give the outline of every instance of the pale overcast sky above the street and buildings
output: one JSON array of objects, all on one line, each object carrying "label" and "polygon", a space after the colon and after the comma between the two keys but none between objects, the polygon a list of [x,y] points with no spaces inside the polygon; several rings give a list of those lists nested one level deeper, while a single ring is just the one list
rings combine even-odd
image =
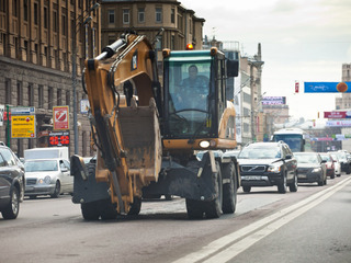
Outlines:
[{"label": "pale overcast sky above the street and buildings", "polygon": [[262,92],[286,96],[293,117],[315,119],[335,110],[340,94],[304,93],[303,82],[341,81],[342,64],[351,64],[351,0],[179,1],[206,20],[210,38],[239,42],[246,56],[261,43]]}]

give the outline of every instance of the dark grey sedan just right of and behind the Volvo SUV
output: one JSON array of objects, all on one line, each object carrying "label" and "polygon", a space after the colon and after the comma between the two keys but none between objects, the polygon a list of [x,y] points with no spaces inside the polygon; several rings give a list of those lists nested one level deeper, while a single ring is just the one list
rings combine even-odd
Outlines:
[{"label": "dark grey sedan just right of and behind the Volvo SUV", "polygon": [[298,183],[327,184],[326,161],[317,152],[294,152],[297,160]]}]

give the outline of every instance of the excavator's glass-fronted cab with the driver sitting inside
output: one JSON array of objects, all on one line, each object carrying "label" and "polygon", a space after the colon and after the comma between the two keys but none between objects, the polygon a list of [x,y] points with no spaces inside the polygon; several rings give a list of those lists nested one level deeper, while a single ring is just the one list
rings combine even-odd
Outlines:
[{"label": "excavator's glass-fronted cab with the driver sitting inside", "polygon": [[163,50],[163,139],[202,149],[196,139],[218,138],[227,106],[226,76],[225,56],[218,50]]}]

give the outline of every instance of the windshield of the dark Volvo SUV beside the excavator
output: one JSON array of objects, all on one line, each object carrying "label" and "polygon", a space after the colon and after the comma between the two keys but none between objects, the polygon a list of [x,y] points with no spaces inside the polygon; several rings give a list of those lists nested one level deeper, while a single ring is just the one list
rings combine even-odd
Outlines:
[{"label": "windshield of the dark Volvo SUV beside the excavator", "polygon": [[244,148],[238,159],[274,159],[281,158],[279,147],[247,147]]}]

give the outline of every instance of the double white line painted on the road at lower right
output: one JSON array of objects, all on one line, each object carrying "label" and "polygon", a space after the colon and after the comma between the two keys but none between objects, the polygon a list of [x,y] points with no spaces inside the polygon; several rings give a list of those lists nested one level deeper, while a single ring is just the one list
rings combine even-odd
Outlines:
[{"label": "double white line painted on the road at lower right", "polygon": [[[318,205],[320,202],[325,201],[336,192],[338,192],[340,188],[344,187],[346,184],[349,183],[351,178],[348,178],[338,184],[325,188],[306,199],[303,199],[295,205],[292,205],[290,207],[286,207],[282,210],[276,211],[273,215],[270,215],[265,218],[260,219],[257,222],[253,222],[245,228],[241,228],[238,231],[231,232],[225,237],[222,237],[207,245],[203,247],[201,250],[190,253],[173,263],[193,263],[193,262],[227,262],[228,260],[233,259],[237,254],[241,253],[246,249],[248,249],[253,243],[258,242],[265,236],[270,235],[271,232],[279,229],[281,226],[285,225],[286,222],[293,220],[297,216],[302,215],[303,213],[307,211],[312,207]],[[298,209],[301,208],[301,209]],[[295,211],[295,213],[293,213]],[[291,215],[287,215],[292,213]],[[280,219],[280,220],[278,220]],[[271,224],[272,221],[275,221],[274,224]],[[269,225],[271,224],[271,225]],[[269,225],[269,226],[267,226]],[[264,227],[264,228],[263,228]],[[261,229],[262,228],[262,229]],[[250,235],[251,236],[248,236]],[[248,236],[248,237],[246,237]],[[246,237],[246,238],[245,238]],[[242,239],[245,238],[245,239]],[[239,242],[234,243],[235,241],[240,240]],[[233,244],[234,243],[234,244]],[[230,245],[231,244],[231,245]],[[223,250],[225,247],[230,245],[229,248],[225,249],[224,251],[219,252],[219,250]],[[208,259],[208,256],[212,256]],[[208,260],[207,260],[208,259]]]}]

